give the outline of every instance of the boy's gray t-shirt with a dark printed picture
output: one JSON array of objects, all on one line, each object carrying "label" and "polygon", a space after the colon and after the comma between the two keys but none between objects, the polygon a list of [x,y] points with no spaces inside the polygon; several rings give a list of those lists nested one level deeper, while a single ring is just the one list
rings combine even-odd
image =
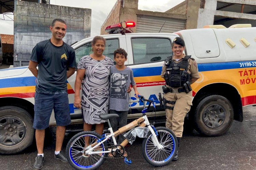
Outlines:
[{"label": "boy's gray t-shirt with a dark printed picture", "polygon": [[126,67],[119,71],[115,65],[110,67],[110,99],[109,108],[115,111],[129,110],[129,94],[127,89],[130,86],[136,85],[133,79],[131,68]]}]

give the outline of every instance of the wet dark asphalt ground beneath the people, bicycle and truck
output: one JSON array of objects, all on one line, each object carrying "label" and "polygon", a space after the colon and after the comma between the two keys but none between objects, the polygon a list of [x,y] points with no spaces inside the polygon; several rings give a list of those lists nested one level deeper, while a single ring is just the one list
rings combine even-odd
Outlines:
[{"label": "wet dark asphalt ground beneath the people, bicycle and truck", "polygon": [[[68,163],[54,159],[56,127],[46,131],[42,170],[73,169]],[[65,149],[75,133],[66,133],[63,142]],[[164,167],[153,167],[142,156],[141,143],[136,139],[132,146],[126,147],[132,164],[126,165],[122,158],[107,158],[101,170],[256,170],[256,107],[244,108],[244,121],[233,121],[231,128],[218,137],[203,137],[196,131],[185,127],[179,148],[179,160]],[[37,150],[35,144],[16,155],[0,155],[1,170],[31,170]]]}]

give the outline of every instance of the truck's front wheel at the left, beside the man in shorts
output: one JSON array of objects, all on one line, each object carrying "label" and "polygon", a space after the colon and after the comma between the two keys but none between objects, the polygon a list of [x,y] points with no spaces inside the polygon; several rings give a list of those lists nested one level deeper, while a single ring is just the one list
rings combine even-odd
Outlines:
[{"label": "truck's front wheel at the left, beside the man in shorts", "polygon": [[0,153],[14,154],[32,144],[33,119],[27,111],[16,106],[0,107]]}]

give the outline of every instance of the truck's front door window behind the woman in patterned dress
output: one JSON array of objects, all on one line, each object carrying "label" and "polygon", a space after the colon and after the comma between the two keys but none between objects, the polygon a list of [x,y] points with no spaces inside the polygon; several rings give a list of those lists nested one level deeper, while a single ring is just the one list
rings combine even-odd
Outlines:
[{"label": "truck's front door window behind the woman in patterned dress", "polygon": [[[114,51],[119,48],[118,39],[106,39],[106,46],[103,55],[110,57],[112,60],[114,58]],[[75,61],[76,64],[79,63],[80,59],[85,55],[90,55],[93,53],[93,48],[91,47],[91,42],[80,46],[75,49]]]}]

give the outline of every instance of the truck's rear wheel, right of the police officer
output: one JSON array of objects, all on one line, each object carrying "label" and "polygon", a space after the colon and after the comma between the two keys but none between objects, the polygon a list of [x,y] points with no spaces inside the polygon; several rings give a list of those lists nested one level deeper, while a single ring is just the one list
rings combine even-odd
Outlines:
[{"label": "truck's rear wheel, right of the police officer", "polygon": [[196,130],[207,136],[222,135],[230,128],[233,117],[233,107],[227,98],[208,96],[196,107]]}]

